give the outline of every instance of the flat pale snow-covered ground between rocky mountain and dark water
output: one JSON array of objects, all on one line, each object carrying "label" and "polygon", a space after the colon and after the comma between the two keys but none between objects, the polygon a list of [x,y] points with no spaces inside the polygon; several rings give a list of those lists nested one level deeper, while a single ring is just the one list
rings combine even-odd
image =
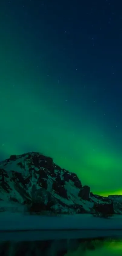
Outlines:
[{"label": "flat pale snow-covered ground between rocky mountain and dark water", "polygon": [[109,219],[90,214],[46,217],[0,213],[0,241],[122,237],[122,215]]}]

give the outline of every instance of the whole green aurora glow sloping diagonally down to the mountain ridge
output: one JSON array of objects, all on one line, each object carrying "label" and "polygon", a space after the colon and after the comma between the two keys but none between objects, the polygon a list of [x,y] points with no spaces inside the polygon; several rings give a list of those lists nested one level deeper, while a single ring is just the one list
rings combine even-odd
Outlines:
[{"label": "whole green aurora glow sloping diagonally down to the mountain ridge", "polygon": [[[10,22],[10,17],[0,41],[1,159],[39,151],[75,172],[93,193],[122,195],[121,152],[111,133],[104,133],[104,112],[101,118],[89,105],[94,99],[91,90],[81,95],[79,108],[71,80],[58,82],[57,60],[53,63],[47,53],[48,67],[54,72],[45,73],[36,43],[30,43],[29,32],[22,32],[21,23]],[[48,42],[42,40],[40,47],[46,52]],[[90,81],[86,86],[90,88]]]}]

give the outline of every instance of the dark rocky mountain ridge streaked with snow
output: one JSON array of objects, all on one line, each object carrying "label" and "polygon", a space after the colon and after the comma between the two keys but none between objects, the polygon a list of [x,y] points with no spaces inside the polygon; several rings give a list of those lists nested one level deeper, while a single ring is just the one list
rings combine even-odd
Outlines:
[{"label": "dark rocky mountain ridge streaked with snow", "polygon": [[116,205],[114,213],[122,213],[116,197],[93,195],[75,173],[62,169],[51,157],[30,152],[0,163],[1,211],[14,204],[26,205],[29,212],[36,213],[95,213],[94,203],[106,204],[107,212]]}]

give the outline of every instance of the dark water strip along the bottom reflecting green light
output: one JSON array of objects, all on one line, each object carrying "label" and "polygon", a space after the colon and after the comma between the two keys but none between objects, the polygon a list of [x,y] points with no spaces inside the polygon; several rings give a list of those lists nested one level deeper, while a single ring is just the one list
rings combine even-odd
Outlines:
[{"label": "dark water strip along the bottom reflecting green light", "polygon": [[34,242],[1,242],[1,256],[119,256],[119,239],[67,239]]}]

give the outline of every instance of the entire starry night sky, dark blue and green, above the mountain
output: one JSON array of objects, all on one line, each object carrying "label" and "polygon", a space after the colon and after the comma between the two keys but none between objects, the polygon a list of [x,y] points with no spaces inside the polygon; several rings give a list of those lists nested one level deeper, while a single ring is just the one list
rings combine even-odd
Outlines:
[{"label": "entire starry night sky, dark blue and green, above the mountain", "polygon": [[122,194],[122,1],[0,3],[0,159],[39,151]]}]

